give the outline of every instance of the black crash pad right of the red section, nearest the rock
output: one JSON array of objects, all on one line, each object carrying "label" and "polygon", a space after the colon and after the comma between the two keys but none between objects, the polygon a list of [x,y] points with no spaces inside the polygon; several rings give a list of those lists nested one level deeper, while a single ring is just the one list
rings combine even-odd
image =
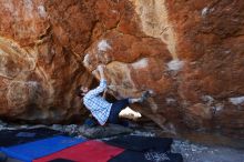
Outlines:
[{"label": "black crash pad right of the red section, nearest the rock", "polygon": [[122,135],[104,141],[108,144],[132,151],[157,150],[166,152],[173,142],[170,138]]}]

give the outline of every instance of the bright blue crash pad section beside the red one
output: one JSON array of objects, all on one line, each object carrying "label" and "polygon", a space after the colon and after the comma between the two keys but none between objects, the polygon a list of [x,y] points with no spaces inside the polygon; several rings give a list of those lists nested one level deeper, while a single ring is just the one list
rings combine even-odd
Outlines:
[{"label": "bright blue crash pad section beside the red one", "polygon": [[20,145],[2,148],[1,150],[11,158],[24,162],[31,162],[34,159],[52,154],[74,144],[82,143],[84,141],[84,139],[57,135]]}]

